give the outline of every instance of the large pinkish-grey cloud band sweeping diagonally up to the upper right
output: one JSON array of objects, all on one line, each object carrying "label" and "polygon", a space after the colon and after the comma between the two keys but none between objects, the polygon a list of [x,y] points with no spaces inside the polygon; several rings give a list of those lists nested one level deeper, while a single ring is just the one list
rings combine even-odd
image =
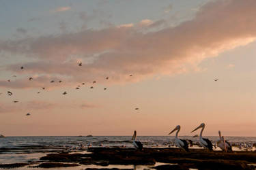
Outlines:
[{"label": "large pinkish-grey cloud band sweeping diagonally up to the upper right", "polygon": [[[124,24],[7,40],[0,41],[0,52],[36,56],[37,61],[26,64],[27,73],[63,76],[71,82],[106,82],[106,75],[112,83],[174,75],[195,68],[205,58],[255,41],[255,7],[255,0],[210,1],[195,18],[175,27],[143,33],[134,24]],[[157,22],[162,20],[152,24]],[[18,64],[5,67],[14,72],[18,68]]]}]

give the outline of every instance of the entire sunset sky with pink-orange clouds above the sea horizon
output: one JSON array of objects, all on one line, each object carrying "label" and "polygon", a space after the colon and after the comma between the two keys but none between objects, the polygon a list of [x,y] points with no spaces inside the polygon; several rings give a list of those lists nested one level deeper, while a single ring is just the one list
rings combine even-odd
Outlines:
[{"label": "entire sunset sky with pink-orange clouds above the sea horizon", "polygon": [[255,7],[3,0],[0,134],[256,136]]}]

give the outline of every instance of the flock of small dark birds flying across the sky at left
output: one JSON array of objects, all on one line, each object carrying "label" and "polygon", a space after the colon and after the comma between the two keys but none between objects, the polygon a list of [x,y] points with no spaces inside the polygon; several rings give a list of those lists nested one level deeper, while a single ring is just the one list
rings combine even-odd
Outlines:
[{"label": "flock of small dark birds flying across the sky at left", "polygon": [[[79,65],[79,67],[81,67],[81,66],[83,65],[83,63],[80,62],[78,65]],[[25,69],[25,67],[22,66],[22,67],[20,67],[20,69]],[[132,74],[130,74],[129,76],[132,77]],[[12,77],[16,78],[17,76],[16,76],[16,75],[13,75]],[[106,79],[106,80],[109,80],[109,76],[107,76],[105,79]],[[29,81],[32,81],[32,80],[33,80],[33,78],[32,78],[32,77],[29,77]],[[11,82],[11,80],[8,79],[8,82]],[[59,80],[58,82],[61,83],[62,80]],[[50,83],[55,83],[55,80],[51,80]],[[94,81],[93,84],[96,84],[96,81]],[[83,82],[82,85],[85,85],[85,83]],[[79,90],[80,88],[81,88],[81,85],[78,85],[78,86],[76,86],[75,89],[76,89],[76,90]],[[92,89],[92,88],[94,88],[94,86],[90,86],[90,88]],[[45,87],[42,87],[42,90],[46,90],[46,88],[45,88]],[[106,90],[106,87],[103,88],[103,90]],[[40,91],[38,91],[37,93],[40,94]],[[64,91],[64,92],[62,93],[62,95],[67,95],[67,94],[68,94],[67,91]],[[2,92],[0,92],[0,95],[2,95]],[[12,93],[11,91],[7,91],[7,95],[8,95],[8,96],[12,96],[13,93]],[[18,100],[14,100],[13,102],[14,102],[14,103],[18,103],[19,101],[18,101]],[[139,108],[136,107],[136,108],[134,108],[134,109],[135,109],[135,110],[138,110]],[[30,115],[31,115],[30,113],[27,113],[27,114],[26,114],[26,116],[30,116]]]}]

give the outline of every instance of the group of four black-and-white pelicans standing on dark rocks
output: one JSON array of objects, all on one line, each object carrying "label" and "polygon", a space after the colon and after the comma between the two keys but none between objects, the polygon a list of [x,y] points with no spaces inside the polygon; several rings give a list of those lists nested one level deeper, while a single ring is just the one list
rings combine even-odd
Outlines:
[{"label": "group of four black-and-white pelicans standing on dark rocks", "polygon": [[[200,135],[199,135],[199,143],[200,145],[209,150],[209,151],[212,151],[213,150],[213,145],[212,145],[212,142],[207,139],[207,138],[203,138],[203,130],[205,128],[205,124],[204,123],[201,123],[196,129],[194,129],[193,131],[191,131],[191,133],[197,131],[197,129],[200,129],[201,128],[201,132],[200,132]],[[175,132],[176,131],[176,135],[175,135],[175,138],[174,138],[174,141],[175,141],[175,145],[179,148],[182,148],[182,150],[186,151],[186,152],[189,152],[188,150],[188,142],[184,139],[180,139],[178,137],[178,133],[180,132],[180,125],[177,125],[173,131],[171,131],[169,133],[169,135],[171,135],[171,133]],[[225,137],[221,136],[221,131],[218,131],[218,135],[220,137],[220,139],[218,139],[217,141],[217,146],[219,148],[221,148],[221,150],[225,151],[225,152],[233,152],[232,150],[232,146],[231,146],[231,143],[229,143],[229,141],[226,141],[225,140]],[[141,141],[137,140],[137,132],[134,131],[133,133],[133,136],[132,136],[132,143],[133,143],[133,146],[135,148],[137,148],[137,150],[142,150],[143,149],[143,144],[141,143]],[[193,146],[193,141],[189,141],[190,143],[190,146]]]}]

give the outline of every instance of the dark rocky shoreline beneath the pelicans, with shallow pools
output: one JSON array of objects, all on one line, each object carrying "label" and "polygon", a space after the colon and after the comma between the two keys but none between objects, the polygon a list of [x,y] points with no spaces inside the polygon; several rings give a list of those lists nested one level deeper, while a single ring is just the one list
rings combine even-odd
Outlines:
[{"label": "dark rocky shoreline beneath the pelicans, with shallow pools", "polygon": [[[35,163],[0,164],[0,168],[14,167],[75,167],[79,165],[148,165],[152,169],[255,169],[256,152],[221,151],[208,152],[190,149],[184,152],[179,148],[88,148],[88,154],[53,153],[42,156],[39,165]],[[154,166],[155,163],[168,165]],[[106,168],[105,168],[106,169]]]}]

